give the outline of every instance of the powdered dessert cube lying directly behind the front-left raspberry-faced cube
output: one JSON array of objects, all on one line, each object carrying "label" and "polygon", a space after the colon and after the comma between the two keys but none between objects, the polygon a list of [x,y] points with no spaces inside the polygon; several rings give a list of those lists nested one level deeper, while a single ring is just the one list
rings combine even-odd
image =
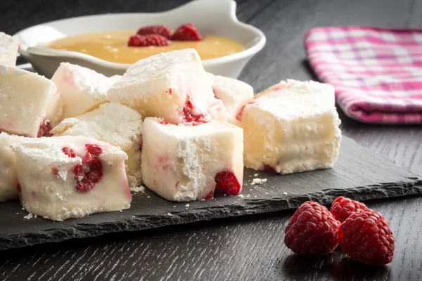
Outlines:
[{"label": "powdered dessert cube lying directly behind the front-left raspberry-faced cube", "polygon": [[104,103],[96,110],[64,119],[51,130],[54,136],[87,136],[121,148],[127,154],[127,178],[139,187],[141,176],[142,117],[119,103]]}]

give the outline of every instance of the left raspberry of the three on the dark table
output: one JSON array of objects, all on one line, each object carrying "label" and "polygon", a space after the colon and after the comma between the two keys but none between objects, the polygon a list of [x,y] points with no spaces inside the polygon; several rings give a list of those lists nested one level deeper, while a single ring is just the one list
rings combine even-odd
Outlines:
[{"label": "left raspberry of the three on the dark table", "polygon": [[339,227],[325,206],[308,201],[293,214],[284,231],[284,244],[296,254],[328,254],[337,247]]}]

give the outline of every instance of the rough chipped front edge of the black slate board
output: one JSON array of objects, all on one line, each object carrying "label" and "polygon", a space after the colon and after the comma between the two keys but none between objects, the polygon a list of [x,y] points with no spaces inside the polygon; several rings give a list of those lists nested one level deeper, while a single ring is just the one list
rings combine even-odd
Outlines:
[{"label": "rough chipped front edge of the black slate board", "polygon": [[[379,183],[376,185],[359,186],[357,188],[326,189],[321,192],[309,195],[289,197],[276,197],[271,200],[245,199],[243,204],[229,204],[224,207],[204,207],[196,208],[191,212],[175,212],[172,215],[164,216],[132,216],[131,219],[124,219],[116,223],[92,224],[78,223],[77,229],[51,228],[44,230],[44,233],[36,235],[24,233],[10,235],[9,239],[0,239],[0,250],[26,247],[45,242],[62,242],[72,238],[95,237],[106,233],[118,233],[123,231],[136,231],[151,228],[160,228],[175,224],[186,224],[197,221],[210,220],[215,218],[225,218],[229,216],[245,216],[250,214],[260,214],[285,209],[295,209],[307,200],[314,200],[321,204],[331,204],[338,196],[350,197],[354,200],[364,201],[385,197],[400,197],[404,195],[416,195],[422,193],[422,181],[418,178],[408,177],[414,182]],[[262,204],[265,202],[265,204]]]}]

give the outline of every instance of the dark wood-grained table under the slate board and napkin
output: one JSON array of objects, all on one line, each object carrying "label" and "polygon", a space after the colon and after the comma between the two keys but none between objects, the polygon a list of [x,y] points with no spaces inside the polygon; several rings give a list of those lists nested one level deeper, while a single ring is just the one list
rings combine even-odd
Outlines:
[{"label": "dark wood-grained table under the slate board and napkin", "polygon": [[[0,30],[14,33],[76,15],[165,11],[184,2],[2,0]],[[311,27],[422,27],[422,0],[237,2],[238,18],[267,35],[267,46],[240,77],[256,91],[281,79],[315,79],[302,47]],[[421,126],[367,125],[340,115],[345,136],[422,176]],[[2,251],[0,280],[422,280],[421,200],[366,202],[395,234],[395,259],[384,268],[360,266],[340,251],[316,258],[292,254],[283,229],[293,212],[285,211]]]}]

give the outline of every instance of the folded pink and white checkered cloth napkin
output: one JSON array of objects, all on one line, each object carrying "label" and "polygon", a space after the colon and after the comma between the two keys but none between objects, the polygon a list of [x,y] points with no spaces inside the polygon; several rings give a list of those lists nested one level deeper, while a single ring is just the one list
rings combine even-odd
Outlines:
[{"label": "folded pink and white checkered cloth napkin", "polygon": [[347,116],[422,124],[422,30],[317,27],[307,32],[305,48]]}]

